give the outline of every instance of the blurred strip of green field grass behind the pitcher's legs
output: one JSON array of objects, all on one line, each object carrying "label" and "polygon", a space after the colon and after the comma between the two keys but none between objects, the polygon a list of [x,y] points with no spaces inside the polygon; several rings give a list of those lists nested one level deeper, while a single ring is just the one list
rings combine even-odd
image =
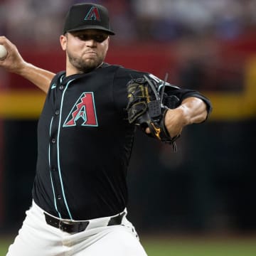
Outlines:
[{"label": "blurred strip of green field grass behind the pitcher's legs", "polygon": [[[0,256],[6,255],[11,238],[0,238]],[[149,256],[255,256],[256,236],[250,237],[164,237],[144,238]],[[25,256],[25,255],[21,255]],[[121,255],[120,255],[121,256]],[[136,255],[134,255],[136,256]]]}]

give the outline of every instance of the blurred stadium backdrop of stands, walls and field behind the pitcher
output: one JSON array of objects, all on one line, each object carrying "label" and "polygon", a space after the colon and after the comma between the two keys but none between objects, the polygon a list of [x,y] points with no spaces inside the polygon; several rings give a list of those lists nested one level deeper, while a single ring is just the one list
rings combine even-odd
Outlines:
[{"label": "blurred stadium backdrop of stands, walls and field behind the pitcher", "polygon": [[[0,34],[28,62],[65,68],[58,36],[81,1],[1,0]],[[208,122],[191,125],[178,152],[138,132],[129,219],[149,255],[256,255],[256,0],[102,0],[112,37],[107,62],[200,90]],[[0,70],[0,251],[31,204],[36,124],[44,95]],[[100,156],[99,156],[100,158]]]}]

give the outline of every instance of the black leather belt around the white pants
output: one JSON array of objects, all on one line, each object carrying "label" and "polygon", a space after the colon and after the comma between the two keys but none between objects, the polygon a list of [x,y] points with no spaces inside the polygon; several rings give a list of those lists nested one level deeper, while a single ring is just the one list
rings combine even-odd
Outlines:
[{"label": "black leather belt around the white pants", "polygon": [[[111,217],[106,226],[120,225],[122,223],[122,218],[125,213],[120,213],[117,216]],[[54,228],[59,228],[70,234],[79,233],[84,231],[90,223],[90,220],[85,221],[72,221],[72,220],[60,220],[55,218],[48,213],[44,213],[46,217],[46,223],[53,226]]]}]

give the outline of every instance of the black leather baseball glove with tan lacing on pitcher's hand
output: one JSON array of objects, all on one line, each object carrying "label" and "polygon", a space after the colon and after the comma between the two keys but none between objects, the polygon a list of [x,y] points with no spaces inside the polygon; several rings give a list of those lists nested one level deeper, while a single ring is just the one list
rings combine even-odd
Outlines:
[{"label": "black leather baseball glove with tan lacing on pitcher's hand", "polygon": [[168,107],[162,104],[159,85],[149,78],[130,80],[127,84],[127,113],[130,124],[139,125],[145,132],[149,127],[151,137],[173,144],[177,137],[171,137],[164,125]]}]

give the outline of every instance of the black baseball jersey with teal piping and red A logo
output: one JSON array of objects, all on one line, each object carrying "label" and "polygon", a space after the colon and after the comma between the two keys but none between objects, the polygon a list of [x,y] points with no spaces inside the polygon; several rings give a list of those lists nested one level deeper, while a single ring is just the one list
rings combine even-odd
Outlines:
[{"label": "black baseball jersey with teal piping and red A logo", "polygon": [[[126,85],[144,74],[104,63],[90,73],[55,75],[38,122],[33,200],[43,210],[88,220],[127,206],[134,125],[127,121]],[[171,87],[171,93],[200,97],[210,110],[198,92]]]}]

